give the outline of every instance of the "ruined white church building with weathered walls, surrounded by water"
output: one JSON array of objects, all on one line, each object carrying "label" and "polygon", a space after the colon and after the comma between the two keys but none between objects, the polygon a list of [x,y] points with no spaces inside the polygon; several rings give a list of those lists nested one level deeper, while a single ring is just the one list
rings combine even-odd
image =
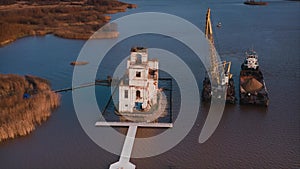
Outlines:
[{"label": "ruined white church building with weathered walls, surrounded by water", "polygon": [[119,113],[148,111],[157,104],[158,90],[158,60],[148,59],[147,48],[131,48],[119,85]]}]

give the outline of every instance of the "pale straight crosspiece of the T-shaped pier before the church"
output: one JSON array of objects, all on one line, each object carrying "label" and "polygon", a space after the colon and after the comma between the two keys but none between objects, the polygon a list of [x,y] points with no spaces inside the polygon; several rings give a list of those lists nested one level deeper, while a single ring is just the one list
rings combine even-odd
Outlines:
[{"label": "pale straight crosspiece of the T-shaped pier before the church", "polygon": [[95,126],[103,127],[103,126],[111,126],[111,127],[128,127],[128,126],[137,126],[137,127],[160,127],[160,128],[170,128],[173,127],[173,123],[135,123],[135,122],[105,122],[98,121]]}]

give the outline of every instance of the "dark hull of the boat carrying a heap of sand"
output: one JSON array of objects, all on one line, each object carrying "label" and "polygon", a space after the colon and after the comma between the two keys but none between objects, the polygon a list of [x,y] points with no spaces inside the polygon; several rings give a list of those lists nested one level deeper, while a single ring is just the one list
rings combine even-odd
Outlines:
[{"label": "dark hull of the boat carrying a heap of sand", "polygon": [[[246,81],[249,79],[255,79],[256,84],[250,84],[246,86]],[[251,86],[252,85],[252,86]],[[255,86],[256,85],[256,86]],[[246,89],[248,87],[248,90]],[[255,89],[257,87],[257,89]],[[269,105],[269,96],[267,88],[263,79],[262,72],[259,69],[245,69],[242,66],[240,72],[240,104],[257,104],[257,105]]]}]

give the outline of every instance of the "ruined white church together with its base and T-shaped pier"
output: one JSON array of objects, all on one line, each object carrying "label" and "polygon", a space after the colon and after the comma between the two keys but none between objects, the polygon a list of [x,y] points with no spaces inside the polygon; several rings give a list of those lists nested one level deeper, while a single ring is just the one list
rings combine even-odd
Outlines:
[{"label": "ruined white church together with its base and T-shaped pier", "polygon": [[[109,169],[135,169],[130,156],[138,127],[173,127],[172,123],[158,123],[167,105],[165,95],[158,88],[158,60],[149,60],[147,48],[131,48],[127,70],[119,84],[118,112],[127,120],[99,121],[96,126],[129,126],[119,161]],[[157,107],[155,106],[157,105]],[[154,108],[151,109],[151,108]]]}]

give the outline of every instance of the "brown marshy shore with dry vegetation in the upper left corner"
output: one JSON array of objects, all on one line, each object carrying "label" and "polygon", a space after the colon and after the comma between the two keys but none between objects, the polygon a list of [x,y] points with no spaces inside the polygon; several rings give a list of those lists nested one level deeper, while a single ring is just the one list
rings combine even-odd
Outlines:
[{"label": "brown marshy shore with dry vegetation in the upper left corner", "polygon": [[[14,1],[0,2],[0,47],[26,36],[55,36],[68,39],[89,39],[111,17],[135,4],[110,0],[77,1]],[[116,38],[113,28],[94,38]]]}]

